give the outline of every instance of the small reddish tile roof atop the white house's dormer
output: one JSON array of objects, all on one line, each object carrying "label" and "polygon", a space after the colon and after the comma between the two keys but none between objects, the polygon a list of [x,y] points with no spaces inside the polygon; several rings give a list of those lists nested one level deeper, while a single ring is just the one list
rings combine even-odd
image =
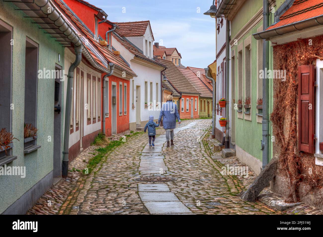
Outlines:
[{"label": "small reddish tile roof atop the white house's dormer", "polygon": [[[147,26],[151,30],[150,21],[135,21],[135,22],[115,22],[120,29],[117,29],[116,32],[121,36],[142,36],[145,34]],[[151,31],[152,33],[152,31]],[[154,36],[152,35],[152,40]]]}]

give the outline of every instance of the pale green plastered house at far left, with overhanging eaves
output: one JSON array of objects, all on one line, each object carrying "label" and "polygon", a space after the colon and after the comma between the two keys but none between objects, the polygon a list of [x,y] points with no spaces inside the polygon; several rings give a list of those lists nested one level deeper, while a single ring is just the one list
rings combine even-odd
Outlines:
[{"label": "pale green plastered house at far left, with overhanging eaves", "polygon": [[[0,214],[25,214],[61,179],[64,52],[70,49],[73,62],[77,46],[82,62],[109,72],[55,3],[0,2],[0,129],[16,138],[0,149]],[[36,136],[24,136],[25,124],[38,129]]]}]

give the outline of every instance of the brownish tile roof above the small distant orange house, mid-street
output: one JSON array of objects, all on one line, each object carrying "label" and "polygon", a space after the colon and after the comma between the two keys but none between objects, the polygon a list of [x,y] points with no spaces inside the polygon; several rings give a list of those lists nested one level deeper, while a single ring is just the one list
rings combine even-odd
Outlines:
[{"label": "brownish tile roof above the small distant orange house, mid-street", "polygon": [[184,94],[200,94],[191,84],[190,81],[182,74],[182,72],[175,66],[174,63],[163,60],[156,59],[161,64],[164,64],[167,69],[165,70],[166,77],[171,85],[178,91]]}]

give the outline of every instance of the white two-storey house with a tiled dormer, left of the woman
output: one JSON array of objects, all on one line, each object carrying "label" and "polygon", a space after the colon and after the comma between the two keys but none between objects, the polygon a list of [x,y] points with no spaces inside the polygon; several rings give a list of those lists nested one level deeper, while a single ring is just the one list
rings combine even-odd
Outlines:
[{"label": "white two-storey house with a tiled dormer, left of the woman", "polygon": [[137,75],[130,80],[129,127],[143,129],[149,115],[153,115],[155,121],[159,117],[161,71],[165,66],[153,58],[154,38],[149,21],[117,25],[120,29],[113,34],[112,45]]}]

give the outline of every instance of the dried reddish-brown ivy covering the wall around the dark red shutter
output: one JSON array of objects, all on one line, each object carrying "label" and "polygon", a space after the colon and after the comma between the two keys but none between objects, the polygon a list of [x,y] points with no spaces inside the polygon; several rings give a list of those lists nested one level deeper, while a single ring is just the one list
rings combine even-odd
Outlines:
[{"label": "dried reddish-brown ivy covering the wall around the dark red shutter", "polygon": [[[273,80],[274,107],[270,120],[280,149],[280,169],[290,181],[289,199],[293,202],[299,201],[301,182],[306,182],[312,191],[323,186],[322,167],[315,167],[313,156],[299,153],[297,149],[298,66],[312,64],[317,55],[323,55],[323,36],[311,40],[312,45],[309,39],[301,39],[273,48],[274,70],[286,70],[287,78],[286,81]],[[307,172],[310,168],[312,174]]]}]

